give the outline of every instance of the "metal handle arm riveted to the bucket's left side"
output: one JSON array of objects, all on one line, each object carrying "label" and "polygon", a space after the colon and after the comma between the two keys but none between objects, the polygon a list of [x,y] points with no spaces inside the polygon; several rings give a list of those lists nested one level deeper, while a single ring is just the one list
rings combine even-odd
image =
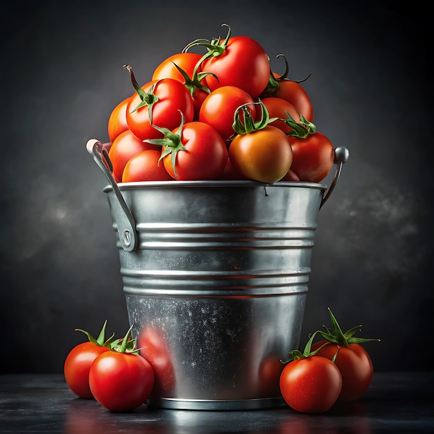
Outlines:
[{"label": "metal handle arm riveted to the bucket's left side", "polygon": [[[132,217],[131,211],[128,208],[128,205],[125,203],[123,199],[122,193],[119,190],[118,184],[114,180],[112,176],[112,162],[110,162],[110,158],[108,157],[107,150],[105,150],[104,146],[101,144],[101,141],[96,139],[90,139],[86,144],[87,152],[94,157],[94,161],[98,164],[98,167],[101,168],[108,182],[110,182],[110,186],[116,195],[116,200],[114,200],[114,214],[116,216],[116,224],[118,227],[118,236],[119,241],[121,242],[123,250],[127,252],[132,252],[137,248],[137,232],[135,228],[134,218]],[[107,168],[106,164],[109,166]],[[110,170],[109,170],[110,168]]]}]

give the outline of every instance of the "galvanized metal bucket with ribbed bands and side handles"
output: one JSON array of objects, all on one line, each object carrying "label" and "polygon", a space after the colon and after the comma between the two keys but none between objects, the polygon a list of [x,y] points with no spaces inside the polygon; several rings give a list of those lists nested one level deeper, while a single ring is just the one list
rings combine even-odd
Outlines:
[{"label": "galvanized metal bucket with ribbed bands and side handles", "polygon": [[[100,142],[134,337],[155,371],[148,404],[189,410],[284,405],[279,376],[298,347],[318,211],[306,182],[116,184]],[[110,162],[108,162],[110,165]]]}]

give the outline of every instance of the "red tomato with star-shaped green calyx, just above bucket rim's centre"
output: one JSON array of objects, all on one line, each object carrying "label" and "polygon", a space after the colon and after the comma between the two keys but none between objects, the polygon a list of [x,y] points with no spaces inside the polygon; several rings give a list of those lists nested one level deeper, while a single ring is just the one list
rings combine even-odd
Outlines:
[{"label": "red tomato with star-shaped green calyx, just above bucket rim's centre", "polygon": [[[227,162],[227,146],[218,132],[203,122],[184,125],[181,143],[185,150],[175,156],[164,157],[164,167],[175,180],[216,180],[223,173]],[[176,171],[176,173],[175,173]]]}]

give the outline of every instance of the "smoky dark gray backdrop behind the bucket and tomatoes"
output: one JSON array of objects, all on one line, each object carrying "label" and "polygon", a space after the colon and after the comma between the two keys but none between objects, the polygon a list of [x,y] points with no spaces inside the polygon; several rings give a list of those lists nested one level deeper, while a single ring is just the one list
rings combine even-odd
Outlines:
[{"label": "smoky dark gray backdrop behind the bucket and tomatoes", "polygon": [[[327,307],[363,324],[376,370],[431,370],[428,2],[7,2],[1,20],[0,372],[61,372],[84,336],[128,329],[105,178],[85,150],[112,108],[198,37],[248,35],[305,83],[351,157],[320,212],[302,342]],[[430,23],[431,25],[431,23]],[[431,33],[431,31],[430,31]]]}]

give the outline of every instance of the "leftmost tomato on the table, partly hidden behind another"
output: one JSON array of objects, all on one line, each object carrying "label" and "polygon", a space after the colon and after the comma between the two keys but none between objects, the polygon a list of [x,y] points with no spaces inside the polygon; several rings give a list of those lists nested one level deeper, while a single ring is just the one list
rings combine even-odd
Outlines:
[{"label": "leftmost tomato on the table, partly hidden behind another", "polygon": [[92,398],[89,387],[89,370],[94,360],[108,347],[82,342],[73,347],[64,361],[64,378],[69,388],[80,398]]}]

